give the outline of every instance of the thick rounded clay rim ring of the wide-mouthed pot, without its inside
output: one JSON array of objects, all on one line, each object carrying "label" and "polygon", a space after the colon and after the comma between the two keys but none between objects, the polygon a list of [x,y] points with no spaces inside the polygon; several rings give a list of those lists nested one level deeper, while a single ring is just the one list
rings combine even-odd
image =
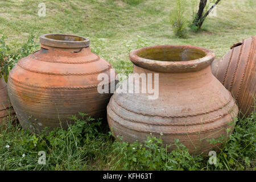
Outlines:
[{"label": "thick rounded clay rim ring of the wide-mouthed pot, without its inside", "polygon": [[[200,57],[195,60],[187,61],[159,61],[146,59],[138,56],[138,53],[152,48],[181,48],[181,49],[199,49],[205,53],[205,56]],[[160,46],[150,46],[136,49],[130,52],[130,60],[133,64],[144,69],[150,69],[155,72],[164,72],[164,73],[186,73],[186,72],[196,72],[201,69],[207,68],[210,66],[212,61],[215,58],[215,53],[208,49],[197,47],[197,46],[185,46],[185,45],[160,45]]]}]

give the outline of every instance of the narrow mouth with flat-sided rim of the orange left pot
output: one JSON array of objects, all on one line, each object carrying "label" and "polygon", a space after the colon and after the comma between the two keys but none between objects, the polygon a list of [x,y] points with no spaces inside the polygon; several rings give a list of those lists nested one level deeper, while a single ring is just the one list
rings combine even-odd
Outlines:
[{"label": "narrow mouth with flat-sided rim of the orange left pot", "polygon": [[44,34],[40,36],[40,43],[45,46],[58,48],[82,48],[90,46],[90,40],[88,38],[69,34]]}]

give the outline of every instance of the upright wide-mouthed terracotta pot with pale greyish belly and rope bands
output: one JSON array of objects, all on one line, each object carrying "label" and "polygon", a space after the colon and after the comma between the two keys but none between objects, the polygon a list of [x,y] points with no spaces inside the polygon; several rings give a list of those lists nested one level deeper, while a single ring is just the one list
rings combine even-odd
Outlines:
[{"label": "upright wide-mouthed terracotta pot with pale greyish belly and rope bands", "polygon": [[[213,145],[206,139],[226,135],[228,128],[231,133],[229,123],[238,112],[229,91],[210,71],[214,57],[212,51],[195,46],[132,51],[133,73],[159,74],[159,97],[149,100],[151,94],[148,90],[142,93],[142,89],[136,94],[114,93],[108,104],[108,123],[114,135],[131,143],[143,142],[150,134],[163,134],[164,144],[179,139],[190,152],[210,151]],[[147,86],[153,88],[150,82]]]}]

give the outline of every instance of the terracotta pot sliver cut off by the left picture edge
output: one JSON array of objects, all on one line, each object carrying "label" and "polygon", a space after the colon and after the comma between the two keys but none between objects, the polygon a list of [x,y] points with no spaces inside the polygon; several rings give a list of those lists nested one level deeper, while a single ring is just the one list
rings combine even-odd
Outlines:
[{"label": "terracotta pot sliver cut off by the left picture edge", "polygon": [[15,115],[13,107],[8,97],[7,84],[3,78],[0,78],[0,125],[7,121],[10,115]]}]

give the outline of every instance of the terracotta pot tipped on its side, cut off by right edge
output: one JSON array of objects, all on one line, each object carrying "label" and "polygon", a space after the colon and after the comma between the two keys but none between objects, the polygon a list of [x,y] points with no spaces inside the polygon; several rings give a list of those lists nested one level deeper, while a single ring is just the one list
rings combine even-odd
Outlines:
[{"label": "terracotta pot tipped on its side, cut off by right edge", "polygon": [[214,76],[237,100],[242,114],[255,112],[256,99],[256,36],[234,44],[221,59],[214,60]]}]

